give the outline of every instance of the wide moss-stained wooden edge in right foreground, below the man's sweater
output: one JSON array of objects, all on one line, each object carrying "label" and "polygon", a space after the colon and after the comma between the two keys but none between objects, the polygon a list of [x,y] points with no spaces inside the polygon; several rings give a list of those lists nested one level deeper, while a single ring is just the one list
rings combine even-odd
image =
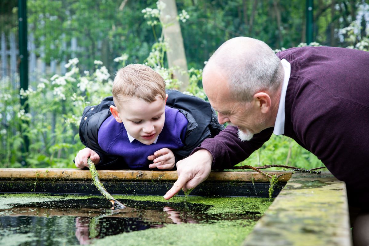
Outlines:
[{"label": "wide moss-stained wooden edge in right foreground, below the man's sweater", "polygon": [[349,246],[346,186],[329,172],[295,173],[244,246]]}]

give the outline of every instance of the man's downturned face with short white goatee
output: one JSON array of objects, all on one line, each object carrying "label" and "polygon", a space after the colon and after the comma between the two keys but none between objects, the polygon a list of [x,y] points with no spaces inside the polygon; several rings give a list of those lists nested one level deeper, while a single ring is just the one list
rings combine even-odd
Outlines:
[{"label": "man's downturned face with short white goatee", "polygon": [[203,87],[214,110],[218,112],[220,124],[230,122],[239,129],[242,141],[250,140],[254,134],[265,129],[265,117],[254,101],[250,103],[235,100],[228,88],[228,82],[219,69],[208,67],[203,74]]}]

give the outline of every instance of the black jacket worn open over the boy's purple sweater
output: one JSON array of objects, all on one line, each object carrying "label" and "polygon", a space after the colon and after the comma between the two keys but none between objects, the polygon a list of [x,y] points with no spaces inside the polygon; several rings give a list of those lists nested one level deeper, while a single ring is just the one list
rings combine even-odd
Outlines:
[{"label": "black jacket worn open over the boy's purple sweater", "polygon": [[[201,98],[189,96],[176,90],[166,90],[168,100],[166,105],[178,109],[188,120],[184,146],[172,150],[176,162],[190,155],[192,150],[199,146],[206,138],[213,138],[221,130],[223,125],[218,123],[218,117],[210,103]],[[101,124],[111,115],[110,105],[114,105],[113,97],[106,97],[99,105],[87,106],[83,110],[79,125],[79,137],[81,142],[94,150],[100,156],[99,169],[125,169],[125,163],[120,156],[107,154],[102,150],[97,141],[97,134]]]}]

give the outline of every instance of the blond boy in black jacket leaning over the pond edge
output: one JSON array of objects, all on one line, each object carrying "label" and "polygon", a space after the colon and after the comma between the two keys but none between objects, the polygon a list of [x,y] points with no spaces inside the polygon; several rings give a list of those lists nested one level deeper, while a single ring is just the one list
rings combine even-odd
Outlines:
[{"label": "blond boy in black jacket leaning over the pond edge", "polygon": [[87,148],[75,164],[88,167],[90,157],[99,169],[173,169],[223,128],[210,103],[165,90],[151,67],[128,65],[115,76],[113,96],[83,111],[79,136]]}]

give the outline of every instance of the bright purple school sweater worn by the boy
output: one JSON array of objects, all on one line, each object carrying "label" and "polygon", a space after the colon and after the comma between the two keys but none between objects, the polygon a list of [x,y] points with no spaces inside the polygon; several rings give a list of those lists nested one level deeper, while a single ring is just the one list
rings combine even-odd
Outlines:
[{"label": "bright purple school sweater worn by the boy", "polygon": [[118,123],[113,115],[101,125],[98,133],[98,142],[109,155],[122,156],[131,169],[148,168],[153,163],[147,157],[154,155],[162,148],[179,149],[183,147],[188,121],[179,110],[165,106],[165,122],[158,141],[146,145],[136,139],[130,142],[123,123]]}]

